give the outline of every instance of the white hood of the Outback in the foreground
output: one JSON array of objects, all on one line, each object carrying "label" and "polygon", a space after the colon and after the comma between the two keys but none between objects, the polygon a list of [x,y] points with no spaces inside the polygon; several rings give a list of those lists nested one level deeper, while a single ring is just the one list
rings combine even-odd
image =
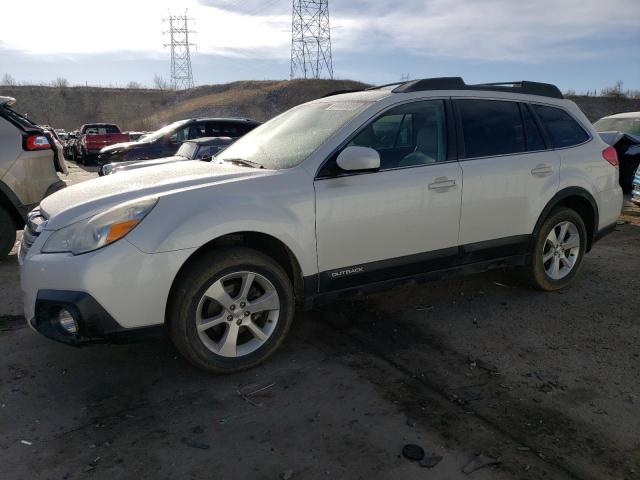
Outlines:
[{"label": "white hood of the Outback in the foreground", "polygon": [[150,196],[162,197],[180,190],[269,175],[272,170],[200,160],[141,168],[78,183],[45,198],[40,210],[46,230],[58,230],[116,205]]}]

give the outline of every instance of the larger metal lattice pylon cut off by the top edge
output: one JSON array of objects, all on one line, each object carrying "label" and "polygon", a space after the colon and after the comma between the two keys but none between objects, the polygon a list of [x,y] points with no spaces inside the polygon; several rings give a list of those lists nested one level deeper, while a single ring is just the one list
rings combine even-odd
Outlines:
[{"label": "larger metal lattice pylon cut off by the top edge", "polygon": [[293,0],[291,78],[333,78],[329,0]]}]

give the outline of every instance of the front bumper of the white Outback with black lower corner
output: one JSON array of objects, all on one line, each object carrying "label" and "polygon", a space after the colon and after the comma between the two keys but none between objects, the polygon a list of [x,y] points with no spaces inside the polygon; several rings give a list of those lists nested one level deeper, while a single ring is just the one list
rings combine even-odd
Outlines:
[{"label": "front bumper of the white Outback with black lower corner", "polygon": [[[33,329],[84,344],[135,338],[134,330],[164,324],[173,280],[192,249],[147,254],[123,239],[82,255],[41,253],[51,233],[23,237],[18,252],[24,314]],[[66,306],[77,313],[77,338],[52,328]]]}]

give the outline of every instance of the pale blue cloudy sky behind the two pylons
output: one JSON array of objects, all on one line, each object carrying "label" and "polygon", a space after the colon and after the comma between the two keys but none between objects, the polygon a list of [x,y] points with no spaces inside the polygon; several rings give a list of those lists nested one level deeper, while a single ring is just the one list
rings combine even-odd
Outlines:
[{"label": "pale blue cloudy sky behind the two pylons", "polygon": [[[170,76],[162,18],[188,9],[196,85],[287,79],[291,1],[4,2],[0,78],[152,86]],[[526,79],[578,93],[621,80],[640,90],[640,0],[329,0],[329,11],[334,78]]]}]

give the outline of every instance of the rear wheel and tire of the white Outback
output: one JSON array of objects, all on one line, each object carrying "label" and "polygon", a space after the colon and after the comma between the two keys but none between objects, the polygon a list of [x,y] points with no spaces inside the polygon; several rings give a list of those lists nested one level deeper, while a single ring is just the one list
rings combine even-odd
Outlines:
[{"label": "rear wheel and tire of the white Outback", "polygon": [[570,208],[553,210],[534,242],[527,268],[533,285],[546,291],[568,286],[577,275],[586,251],[587,229],[582,217]]}]

